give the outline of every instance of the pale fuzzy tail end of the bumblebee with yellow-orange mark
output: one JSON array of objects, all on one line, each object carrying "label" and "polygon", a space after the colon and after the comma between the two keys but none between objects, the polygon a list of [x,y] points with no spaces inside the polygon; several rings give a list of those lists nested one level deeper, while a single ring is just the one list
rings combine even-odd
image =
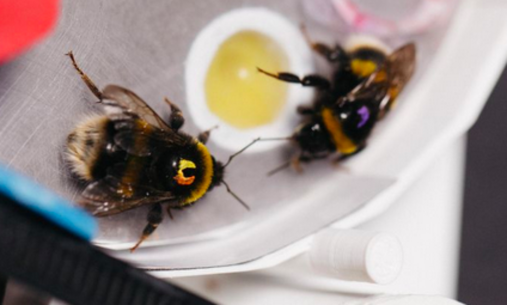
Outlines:
[{"label": "pale fuzzy tail end of the bumblebee with yellow-orange mark", "polygon": [[84,180],[97,178],[97,166],[107,145],[109,123],[107,116],[90,116],[67,137],[66,159],[72,172]]}]

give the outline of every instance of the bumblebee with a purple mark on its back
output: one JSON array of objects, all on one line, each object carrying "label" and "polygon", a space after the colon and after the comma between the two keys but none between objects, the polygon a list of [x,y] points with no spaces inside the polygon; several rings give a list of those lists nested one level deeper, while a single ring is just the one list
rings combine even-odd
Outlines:
[{"label": "bumblebee with a purple mark on its back", "polygon": [[[309,40],[309,39],[308,39]],[[319,75],[300,79],[292,73],[258,71],[275,79],[315,87],[317,98],[297,112],[303,123],[287,139],[300,152],[285,165],[301,170],[300,162],[337,154],[336,161],[360,152],[376,123],[393,107],[410,80],[416,64],[416,46],[408,43],[387,55],[372,46],[346,52],[309,40],[312,49],[335,66],[332,80]]]}]

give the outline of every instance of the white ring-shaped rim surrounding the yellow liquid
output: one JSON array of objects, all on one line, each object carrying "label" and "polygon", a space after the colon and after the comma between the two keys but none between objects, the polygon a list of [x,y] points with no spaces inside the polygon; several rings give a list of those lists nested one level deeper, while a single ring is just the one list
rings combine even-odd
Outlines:
[{"label": "white ring-shaped rim surrounding the yellow liquid", "polygon": [[[291,118],[299,104],[311,103],[313,90],[297,84],[289,85],[287,101],[274,122],[250,129],[239,129],[222,121],[206,103],[204,84],[209,66],[220,45],[229,37],[243,31],[255,31],[274,41],[284,50],[289,71],[302,76],[314,71],[312,52],[297,26],[284,16],[265,8],[242,8],[229,11],[207,25],[194,40],[186,62],[185,82],[187,105],[193,121],[201,130],[219,126],[211,140],[224,149],[236,151],[252,139],[289,136],[294,130]],[[246,152],[272,149],[286,143],[269,141],[255,145]]]}]

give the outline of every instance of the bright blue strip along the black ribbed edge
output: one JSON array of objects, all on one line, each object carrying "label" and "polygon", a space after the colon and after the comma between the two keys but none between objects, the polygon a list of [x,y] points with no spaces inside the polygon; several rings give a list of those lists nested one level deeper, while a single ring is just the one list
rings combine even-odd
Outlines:
[{"label": "bright blue strip along the black ribbed edge", "polygon": [[84,210],[3,165],[0,165],[0,194],[86,240],[97,232],[96,220]]}]

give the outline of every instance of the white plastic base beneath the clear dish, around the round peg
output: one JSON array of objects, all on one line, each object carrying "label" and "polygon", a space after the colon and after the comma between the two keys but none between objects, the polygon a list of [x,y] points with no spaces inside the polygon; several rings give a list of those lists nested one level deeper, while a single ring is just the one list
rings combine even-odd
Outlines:
[{"label": "white plastic base beneath the clear dish, around the round peg", "polygon": [[305,254],[260,272],[172,281],[223,304],[343,304],[375,294],[454,298],[465,144],[466,138],[462,137],[444,147],[386,213],[358,227],[391,233],[400,239],[404,267],[393,284],[381,286],[317,275]]}]

